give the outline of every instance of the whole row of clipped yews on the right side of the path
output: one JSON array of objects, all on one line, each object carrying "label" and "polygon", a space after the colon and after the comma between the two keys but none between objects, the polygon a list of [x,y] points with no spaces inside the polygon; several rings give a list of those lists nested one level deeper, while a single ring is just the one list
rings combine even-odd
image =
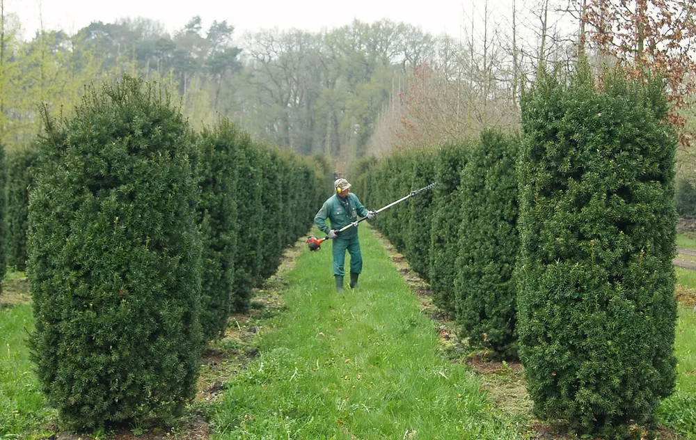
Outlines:
[{"label": "whole row of clipped yews on the right side of the path", "polygon": [[[600,81],[601,79],[601,81]],[[525,366],[534,411],[580,432],[653,421],[674,390],[674,130],[661,82],[545,74],[522,133],[366,160],[378,228],[461,336]]]}]

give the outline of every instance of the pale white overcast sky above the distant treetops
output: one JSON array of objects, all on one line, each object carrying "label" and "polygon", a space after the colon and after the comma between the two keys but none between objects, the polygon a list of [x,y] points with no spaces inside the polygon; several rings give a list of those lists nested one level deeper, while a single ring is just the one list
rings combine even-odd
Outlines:
[{"label": "pale white overcast sky above the distant treetops", "polygon": [[[113,22],[122,17],[148,17],[164,24],[167,31],[181,29],[200,15],[203,28],[213,20],[227,20],[235,36],[244,31],[278,27],[320,31],[349,24],[353,19],[374,22],[382,18],[420,26],[423,31],[459,38],[464,8],[470,1],[457,0],[3,0],[6,11],[16,13],[24,37],[40,26],[74,33],[93,21]],[[507,1],[503,1],[507,3]],[[500,6],[500,1],[492,2]],[[465,6],[466,5],[466,6]]]}]

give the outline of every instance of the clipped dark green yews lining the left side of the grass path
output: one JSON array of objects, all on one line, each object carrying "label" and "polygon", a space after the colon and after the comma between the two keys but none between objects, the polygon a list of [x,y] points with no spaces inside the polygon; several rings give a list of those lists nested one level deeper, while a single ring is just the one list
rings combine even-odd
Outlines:
[{"label": "clipped dark green yews lining the left side of the grass path", "polygon": [[42,389],[72,427],[171,420],[207,341],[310,227],[329,162],[226,120],[192,132],[166,91],[128,77],[43,117],[3,169],[0,252],[26,264]]}]

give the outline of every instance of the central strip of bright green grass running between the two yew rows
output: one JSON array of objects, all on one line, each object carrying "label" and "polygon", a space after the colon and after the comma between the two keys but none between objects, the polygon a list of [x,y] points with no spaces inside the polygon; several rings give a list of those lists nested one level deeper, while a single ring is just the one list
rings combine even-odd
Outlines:
[{"label": "central strip of bright green grass running between the two yew rows", "polygon": [[360,234],[354,292],[335,292],[330,242],[301,253],[284,277],[287,310],[212,410],[213,438],[517,438],[473,373],[438,356],[434,325],[372,232]]}]

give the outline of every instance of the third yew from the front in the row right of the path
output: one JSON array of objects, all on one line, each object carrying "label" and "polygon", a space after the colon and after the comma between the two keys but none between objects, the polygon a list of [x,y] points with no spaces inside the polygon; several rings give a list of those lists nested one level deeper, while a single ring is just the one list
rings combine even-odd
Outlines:
[{"label": "third yew from the front in the row right of the path", "polygon": [[432,234],[430,239],[430,286],[433,301],[442,311],[454,315],[454,276],[457,274],[457,244],[461,222],[458,200],[461,170],[466,166],[466,143],[444,146],[435,162]]}]

